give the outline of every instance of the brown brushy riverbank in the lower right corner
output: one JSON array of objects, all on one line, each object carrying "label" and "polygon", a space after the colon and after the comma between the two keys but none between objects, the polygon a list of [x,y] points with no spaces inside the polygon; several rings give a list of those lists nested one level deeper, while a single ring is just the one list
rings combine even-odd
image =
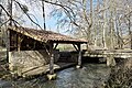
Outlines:
[{"label": "brown brushy riverbank in the lower right corner", "polygon": [[111,72],[106,88],[132,87],[132,58],[123,59]]}]

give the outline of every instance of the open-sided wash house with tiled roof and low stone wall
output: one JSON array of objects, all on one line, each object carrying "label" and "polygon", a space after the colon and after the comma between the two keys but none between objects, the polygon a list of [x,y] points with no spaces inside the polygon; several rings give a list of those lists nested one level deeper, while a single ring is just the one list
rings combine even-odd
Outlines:
[{"label": "open-sided wash house with tiled roof and low stone wall", "polygon": [[[73,38],[52,31],[29,28],[9,28],[9,68],[12,73],[23,75],[30,70],[44,72],[48,65],[50,75],[54,74],[54,63],[59,58],[58,44],[73,44],[78,53],[77,66],[81,66],[81,44],[87,41]],[[40,74],[40,72],[35,72]]]}]

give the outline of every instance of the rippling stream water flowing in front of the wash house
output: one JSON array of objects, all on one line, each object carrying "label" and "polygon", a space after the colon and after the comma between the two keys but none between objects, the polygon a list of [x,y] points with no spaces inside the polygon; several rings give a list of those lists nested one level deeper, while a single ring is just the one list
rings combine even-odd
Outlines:
[{"label": "rippling stream water flowing in front of the wash house", "polygon": [[70,67],[58,72],[56,80],[46,80],[41,76],[29,80],[10,81],[7,84],[9,86],[3,88],[11,87],[10,84],[13,85],[11,88],[102,88],[109,74],[110,68],[106,64],[85,64],[80,69]]}]

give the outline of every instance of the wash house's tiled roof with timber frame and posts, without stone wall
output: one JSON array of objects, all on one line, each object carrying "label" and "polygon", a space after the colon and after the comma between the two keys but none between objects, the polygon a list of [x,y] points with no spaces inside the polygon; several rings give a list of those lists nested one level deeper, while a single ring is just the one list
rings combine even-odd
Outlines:
[{"label": "wash house's tiled roof with timber frame and posts, without stone wall", "polygon": [[[34,30],[29,28],[9,28],[11,51],[46,50],[50,55],[50,74],[54,74],[54,54],[57,45],[73,44],[78,52],[78,67],[81,66],[81,44],[86,40],[73,38],[52,31]],[[54,44],[56,45],[54,46]]]}]

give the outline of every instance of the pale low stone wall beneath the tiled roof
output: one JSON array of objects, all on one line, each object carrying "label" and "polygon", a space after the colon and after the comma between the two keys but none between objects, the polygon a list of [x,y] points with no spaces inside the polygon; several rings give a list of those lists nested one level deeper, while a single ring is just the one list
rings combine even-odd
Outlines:
[{"label": "pale low stone wall beneath the tiled roof", "polygon": [[[59,51],[54,51],[55,62],[59,58]],[[12,73],[21,75],[24,72],[42,67],[50,63],[45,51],[9,52],[9,68]]]}]

